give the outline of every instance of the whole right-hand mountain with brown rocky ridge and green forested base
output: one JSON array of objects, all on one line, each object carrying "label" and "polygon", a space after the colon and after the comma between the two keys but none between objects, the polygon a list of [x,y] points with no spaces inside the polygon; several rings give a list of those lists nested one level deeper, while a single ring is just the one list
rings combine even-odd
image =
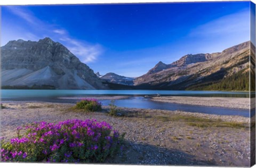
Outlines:
[{"label": "whole right-hand mountain with brown rocky ridge and green forested base", "polygon": [[249,90],[250,42],[219,53],[188,54],[134,80],[138,89]]}]

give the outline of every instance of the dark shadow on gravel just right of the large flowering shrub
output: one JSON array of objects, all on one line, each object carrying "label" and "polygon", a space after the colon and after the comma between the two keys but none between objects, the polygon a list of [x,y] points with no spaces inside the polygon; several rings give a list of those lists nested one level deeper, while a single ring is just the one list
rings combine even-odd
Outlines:
[{"label": "dark shadow on gravel just right of the large flowering shrub", "polygon": [[213,161],[197,160],[177,149],[166,149],[142,143],[126,142],[121,154],[109,159],[110,164],[132,165],[216,165]]}]

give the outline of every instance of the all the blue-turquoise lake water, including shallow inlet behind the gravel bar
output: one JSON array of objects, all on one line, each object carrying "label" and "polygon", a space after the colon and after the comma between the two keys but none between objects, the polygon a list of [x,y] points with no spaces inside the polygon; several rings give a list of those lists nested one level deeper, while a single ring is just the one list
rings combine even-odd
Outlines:
[{"label": "all the blue-turquoise lake water, including shallow inlet behind the gravel bar", "polygon": [[[249,92],[220,92],[220,91],[152,91],[152,90],[1,90],[2,100],[38,100],[48,102],[76,102],[77,100],[61,100],[59,97],[86,97],[86,95],[131,95],[127,99],[115,100],[118,107],[148,108],[163,110],[180,110],[205,114],[239,115],[249,117],[249,110],[230,109],[223,107],[208,107],[182,105],[177,103],[157,102],[145,99],[144,95],[175,95],[197,97],[242,97],[249,98]],[[100,100],[107,106],[110,100]],[[255,113],[254,113],[255,114]],[[252,115],[254,115],[252,114]]]}]

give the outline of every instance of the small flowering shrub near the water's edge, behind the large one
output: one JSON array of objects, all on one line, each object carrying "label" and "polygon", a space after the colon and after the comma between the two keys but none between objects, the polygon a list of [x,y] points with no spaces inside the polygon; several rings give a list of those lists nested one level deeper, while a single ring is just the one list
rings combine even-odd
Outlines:
[{"label": "small flowering shrub near the water's edge, behind the large one", "polygon": [[102,109],[101,103],[97,99],[82,99],[76,103],[76,108],[85,111],[100,111]]}]

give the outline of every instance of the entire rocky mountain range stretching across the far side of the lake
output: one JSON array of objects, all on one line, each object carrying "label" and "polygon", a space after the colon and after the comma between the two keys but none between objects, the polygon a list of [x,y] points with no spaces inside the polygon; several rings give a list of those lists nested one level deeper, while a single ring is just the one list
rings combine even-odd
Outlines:
[{"label": "entire rocky mountain range stretching across the far side of the lake", "polygon": [[[50,38],[19,39],[1,47],[1,82],[3,89],[249,90],[251,45],[245,42],[219,53],[188,54],[170,64],[159,61],[147,74],[131,78],[94,74]],[[255,60],[251,63],[255,66]]]}]

